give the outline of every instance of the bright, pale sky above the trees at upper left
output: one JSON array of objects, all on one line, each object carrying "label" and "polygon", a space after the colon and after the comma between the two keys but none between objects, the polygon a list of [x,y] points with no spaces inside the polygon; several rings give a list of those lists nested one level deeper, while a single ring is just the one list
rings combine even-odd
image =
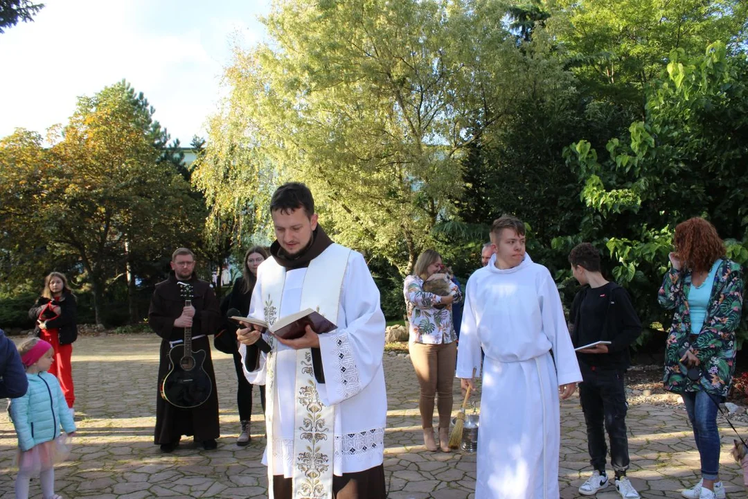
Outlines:
[{"label": "bright, pale sky above the trees at upper left", "polygon": [[[218,110],[233,46],[266,36],[270,0],[41,0],[34,22],[0,34],[0,138],[45,135],[78,97],[126,79],[188,146]],[[38,2],[37,2],[38,3]]]}]

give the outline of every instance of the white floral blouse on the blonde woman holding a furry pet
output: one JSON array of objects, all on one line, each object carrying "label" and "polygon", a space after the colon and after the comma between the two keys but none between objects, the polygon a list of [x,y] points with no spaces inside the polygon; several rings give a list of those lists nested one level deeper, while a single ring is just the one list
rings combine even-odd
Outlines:
[{"label": "white floral blouse on the blonde woman holding a furry pet", "polygon": [[[450,281],[450,290],[455,295],[453,303],[462,301],[460,288]],[[405,304],[408,307],[408,332],[411,343],[437,345],[452,343],[457,334],[452,323],[452,307],[436,308],[441,303],[441,296],[426,293],[423,290],[423,279],[417,275],[405,278]]]}]

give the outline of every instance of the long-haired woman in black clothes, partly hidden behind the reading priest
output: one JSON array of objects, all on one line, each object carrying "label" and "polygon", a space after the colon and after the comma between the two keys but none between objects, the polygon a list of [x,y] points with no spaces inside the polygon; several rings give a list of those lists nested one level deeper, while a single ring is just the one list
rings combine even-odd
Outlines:
[{"label": "long-haired woman in black clothes, partly hidden behind the reading priest", "polygon": [[[247,316],[249,313],[249,303],[252,298],[252,290],[257,282],[257,267],[268,257],[267,251],[262,246],[253,246],[249,248],[244,256],[244,265],[242,266],[242,275],[234,281],[233,288],[229,295],[228,308],[236,308],[241,316]],[[234,330],[236,327],[234,327]],[[233,331],[227,331],[233,334]],[[236,335],[234,335],[236,339]],[[239,355],[238,343],[233,341],[231,354],[233,355],[234,369],[236,370],[237,390],[236,404],[239,405],[239,421],[242,425],[239,438],[236,438],[236,444],[244,447],[251,441],[250,421],[252,418],[252,385],[247,380],[244,369],[242,368],[242,355]],[[265,385],[260,384],[260,403],[263,405],[265,412]]]}]

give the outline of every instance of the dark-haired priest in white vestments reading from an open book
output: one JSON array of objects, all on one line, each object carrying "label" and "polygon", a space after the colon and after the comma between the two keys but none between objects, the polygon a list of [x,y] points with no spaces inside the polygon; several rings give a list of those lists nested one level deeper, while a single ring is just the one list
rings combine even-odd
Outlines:
[{"label": "dark-haired priest in white vestments reading from an open book", "polygon": [[[332,242],[301,183],[275,191],[277,240],[257,269],[249,316],[272,324],[311,308],[337,329],[281,340],[237,331],[240,352],[260,336],[271,351],[250,382],[266,381],[269,496],[384,499],[384,314],[364,257]],[[246,366],[246,362],[243,362]],[[250,366],[256,366],[250,362]]]}]

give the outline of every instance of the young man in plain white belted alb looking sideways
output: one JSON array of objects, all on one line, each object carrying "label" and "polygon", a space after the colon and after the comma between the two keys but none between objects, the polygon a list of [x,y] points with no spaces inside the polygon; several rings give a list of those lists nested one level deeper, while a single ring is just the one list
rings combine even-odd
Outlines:
[{"label": "young man in plain white belted alb looking sideways", "polygon": [[577,356],[551,273],[525,253],[524,224],[497,218],[491,243],[468,280],[457,354],[465,390],[485,352],[475,497],[558,499],[559,395],[582,380]]}]

